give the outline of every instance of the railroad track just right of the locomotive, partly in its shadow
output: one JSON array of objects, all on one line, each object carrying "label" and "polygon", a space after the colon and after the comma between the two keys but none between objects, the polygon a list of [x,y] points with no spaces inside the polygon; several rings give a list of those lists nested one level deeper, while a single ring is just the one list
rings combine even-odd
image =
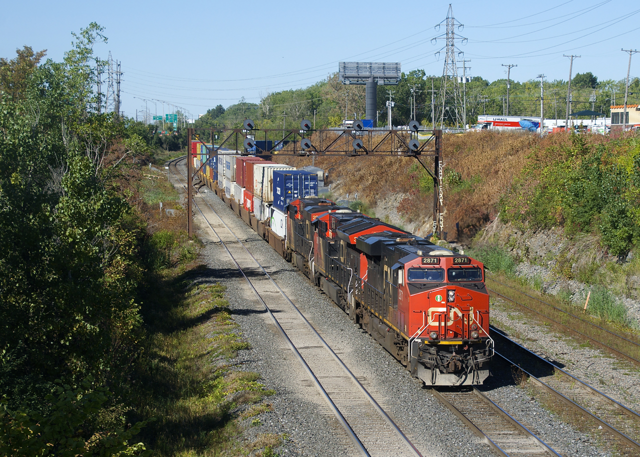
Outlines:
[{"label": "railroad track just right of the locomotive, partly in its shadow", "polygon": [[[563,405],[569,415],[582,422],[581,426],[589,423],[593,430],[602,430],[608,435],[604,439],[614,445],[620,455],[640,455],[640,415],[637,412],[512,341],[493,326],[492,336],[496,346],[504,348],[504,353],[495,351],[495,355],[507,364],[519,367],[549,405],[555,408]],[[509,351],[508,357],[506,351]]]}]

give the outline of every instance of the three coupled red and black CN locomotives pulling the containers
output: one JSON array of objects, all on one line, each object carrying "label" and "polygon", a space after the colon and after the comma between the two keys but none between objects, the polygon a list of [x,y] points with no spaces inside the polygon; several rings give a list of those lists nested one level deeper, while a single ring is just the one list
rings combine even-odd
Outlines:
[{"label": "three coupled red and black CN locomotives pulling the containers", "polygon": [[489,375],[481,262],[321,198],[289,204],[282,243],[285,258],[427,385]]}]

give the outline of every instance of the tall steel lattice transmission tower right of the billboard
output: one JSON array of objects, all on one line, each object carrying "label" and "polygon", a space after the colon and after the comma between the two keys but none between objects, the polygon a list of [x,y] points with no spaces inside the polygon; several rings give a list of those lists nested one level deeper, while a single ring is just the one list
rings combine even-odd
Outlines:
[{"label": "tall steel lattice transmission tower right of the billboard", "polygon": [[[437,42],[437,40],[444,39],[447,43],[440,51],[436,52],[436,54],[440,54],[443,49],[446,49],[442,82],[440,83],[440,91],[437,98],[438,106],[436,108],[436,119],[440,122],[440,129],[444,127],[445,121],[455,122],[456,127],[459,127],[464,122],[463,102],[458,81],[458,65],[456,64],[456,53],[462,54],[462,51],[456,47],[456,28],[461,30],[464,26],[454,19],[451,4],[449,4],[447,19],[440,22],[436,27],[439,28],[445,23],[447,25],[447,33],[436,36],[431,40],[432,42]],[[458,37],[458,40],[465,42],[467,38]]]}]

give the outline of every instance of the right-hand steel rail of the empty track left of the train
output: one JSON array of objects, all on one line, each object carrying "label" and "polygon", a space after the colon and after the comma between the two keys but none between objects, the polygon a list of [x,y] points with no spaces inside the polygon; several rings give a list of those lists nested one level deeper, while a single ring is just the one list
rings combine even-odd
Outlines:
[{"label": "right-hand steel rail of the empty track left of the train", "polygon": [[[177,169],[177,167],[176,167]],[[182,173],[180,173],[182,174]],[[184,177],[184,175],[182,175]],[[198,193],[200,193],[200,191],[198,191],[196,189],[196,191]],[[344,364],[344,362],[342,362],[342,359],[340,359],[340,357],[338,357],[338,355],[335,353],[335,351],[333,351],[333,349],[331,348],[331,346],[329,346],[329,344],[324,341],[323,337],[320,336],[320,334],[317,332],[316,328],[314,328],[314,326],[311,325],[311,323],[308,321],[307,317],[304,316],[304,314],[302,314],[302,312],[300,311],[300,309],[298,309],[298,307],[296,307],[296,305],[291,301],[291,299],[289,299],[289,296],[287,296],[287,294],[285,294],[285,292],[280,288],[280,286],[278,284],[276,284],[275,280],[273,280],[273,278],[271,277],[271,275],[269,275],[269,273],[266,271],[266,269],[264,269],[262,267],[262,265],[257,261],[257,259],[255,259],[255,257],[253,256],[253,254],[248,250],[248,248],[246,247],[246,245],[244,245],[244,243],[242,241],[240,241],[240,239],[236,236],[236,234],[234,234],[234,232],[228,227],[227,223],[225,223],[225,221],[220,217],[220,214],[218,214],[217,211],[215,211],[213,209],[213,207],[211,206],[211,204],[209,204],[209,202],[207,202],[206,200],[203,199],[203,201],[207,204],[207,206],[209,206],[209,208],[211,209],[211,211],[216,214],[216,216],[218,217],[218,219],[220,220],[220,222],[225,226],[225,228],[228,230],[228,232],[230,234],[232,234],[232,236],[234,238],[236,238],[237,243],[239,243],[239,245],[241,245],[244,250],[246,251],[246,253],[249,255],[249,257],[253,260],[253,262],[255,262],[255,264],[262,270],[262,273],[264,273],[264,275],[266,276],[266,278],[268,278],[269,282],[271,282],[271,284],[273,284],[276,289],[278,289],[278,292],[282,295],[282,297],[287,301],[287,303],[289,303],[289,305],[291,305],[292,309],[294,309],[294,311],[296,312],[296,314],[298,314],[298,316],[305,322],[305,324],[308,326],[309,330],[314,333],[314,335],[316,335],[316,337],[319,339],[319,341],[321,341],[321,344],[323,344],[324,348],[327,349],[329,351],[329,353],[332,355],[332,357],[336,360],[336,362],[338,362],[338,364],[340,365],[340,367],[342,367],[342,369],[344,369],[345,373],[348,374],[349,378],[351,378],[351,380],[353,381],[353,383],[355,383],[356,387],[358,387],[358,389],[360,389],[360,391],[362,392],[362,394],[364,394],[365,397],[367,397],[367,399],[369,400],[369,402],[371,403],[371,405],[376,409],[376,411],[378,411],[378,413],[383,417],[383,419],[385,419],[385,421],[387,422],[388,425],[390,425],[392,427],[392,429],[394,429],[394,431],[396,432],[396,434],[398,435],[398,437],[408,446],[410,447],[410,449],[413,451],[413,453],[418,456],[418,457],[422,457],[422,454],[420,454],[420,452],[418,451],[418,449],[415,447],[415,445],[413,445],[413,443],[409,440],[409,438],[406,437],[406,435],[404,435],[403,431],[401,431],[401,429],[397,426],[396,422],[393,421],[393,419],[391,419],[391,417],[389,417],[389,415],[387,414],[387,412],[385,412],[385,410],[383,410],[383,408],[381,408],[381,406],[378,404],[378,402],[371,396],[371,394],[369,393],[369,391],[367,389],[364,388],[364,386],[362,385],[362,383],[360,383],[360,381],[358,380],[358,378],[356,378],[355,374],[353,374],[351,372],[351,370]],[[196,204],[196,207],[198,207],[198,205]],[[200,207],[198,207],[198,211],[200,211]],[[200,214],[202,214],[202,211],[200,211]],[[203,214],[204,217],[204,214]],[[206,220],[206,218],[205,218]],[[209,224],[209,221],[207,221],[207,224]],[[211,225],[209,224],[209,227],[211,227]],[[213,230],[213,229],[212,229]],[[217,235],[216,235],[217,236]],[[264,303],[264,302],[263,302]],[[265,305],[266,306],[266,305]],[[273,316],[273,319],[275,319],[275,316]],[[279,325],[278,325],[279,326]],[[282,330],[284,332],[284,330]],[[288,339],[288,337],[287,337]],[[305,362],[306,364],[306,362]]]}]

